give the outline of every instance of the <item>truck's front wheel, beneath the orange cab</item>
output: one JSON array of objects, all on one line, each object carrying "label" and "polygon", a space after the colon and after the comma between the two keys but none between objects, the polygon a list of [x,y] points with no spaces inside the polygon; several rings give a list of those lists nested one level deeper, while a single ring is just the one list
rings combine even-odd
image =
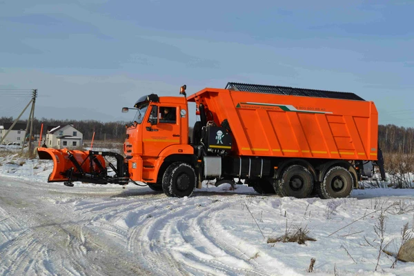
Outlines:
[{"label": "truck's front wheel, beneath the orange cab", "polygon": [[162,189],[168,197],[189,197],[196,183],[194,168],[184,162],[172,163],[162,177]]}]

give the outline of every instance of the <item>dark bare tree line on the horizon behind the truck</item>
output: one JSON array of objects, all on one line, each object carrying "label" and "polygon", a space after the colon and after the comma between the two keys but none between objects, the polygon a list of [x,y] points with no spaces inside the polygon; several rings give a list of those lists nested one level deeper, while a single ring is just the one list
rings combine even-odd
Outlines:
[{"label": "dark bare tree line on the horizon behind the truck", "polygon": [[[0,117],[0,123],[11,123],[12,117]],[[21,120],[19,123],[27,124],[27,120]],[[112,121],[103,123],[95,120],[57,120],[57,119],[36,119],[33,121],[34,134],[39,134],[41,124],[43,123],[43,135],[46,134],[48,126],[61,126],[73,124],[73,126],[83,133],[83,139],[92,139],[95,132],[97,140],[117,140],[124,141],[125,121]],[[378,144],[383,152],[397,152],[404,154],[414,153],[414,128],[404,128],[388,124],[378,126]]]}]

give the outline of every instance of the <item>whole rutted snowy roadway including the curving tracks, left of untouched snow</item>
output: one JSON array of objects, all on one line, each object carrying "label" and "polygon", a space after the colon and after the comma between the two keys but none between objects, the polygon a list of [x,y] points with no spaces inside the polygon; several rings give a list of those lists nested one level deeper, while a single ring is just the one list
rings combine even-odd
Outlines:
[{"label": "whole rutted snowy roadway including the curving tracks, left of untouched snow", "polygon": [[169,199],[148,188],[1,180],[0,273],[267,275],[219,237],[215,211],[240,198],[203,194]]}]

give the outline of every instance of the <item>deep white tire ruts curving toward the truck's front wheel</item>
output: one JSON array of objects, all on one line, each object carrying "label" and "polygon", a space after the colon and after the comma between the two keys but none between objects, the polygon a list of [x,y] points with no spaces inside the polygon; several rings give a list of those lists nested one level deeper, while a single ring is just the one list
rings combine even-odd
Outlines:
[{"label": "deep white tire ruts curving toward the truck's front wheel", "polygon": [[[139,255],[141,262],[145,261],[143,265],[157,271],[159,275],[180,274],[184,273],[184,270],[186,273],[199,273],[200,270],[211,273],[213,270],[224,275],[264,275],[230,250],[217,247],[203,231],[194,230],[205,228],[206,223],[197,217],[212,210],[200,211],[191,202],[193,200],[187,201],[190,201],[187,202],[188,205],[174,206],[172,210],[168,210],[168,202],[161,206],[157,204],[159,207],[156,210],[152,209],[151,217],[143,224],[130,228],[128,250]],[[207,204],[211,202],[210,199],[204,201]],[[227,204],[216,206],[213,212],[224,210],[224,205]],[[148,216],[148,213],[142,209],[139,211],[142,215],[137,221],[143,221],[142,217]],[[208,250],[201,252],[199,248],[205,246],[208,246]],[[182,248],[186,248],[188,252]],[[160,264],[159,260],[164,260],[167,264]]]}]

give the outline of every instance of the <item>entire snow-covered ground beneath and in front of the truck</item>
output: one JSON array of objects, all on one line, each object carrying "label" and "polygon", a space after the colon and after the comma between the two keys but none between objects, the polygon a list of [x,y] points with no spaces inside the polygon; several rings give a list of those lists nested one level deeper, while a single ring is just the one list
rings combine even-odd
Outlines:
[{"label": "entire snow-covered ground beneath and in front of the truck", "polygon": [[[384,243],[397,252],[401,228],[414,227],[411,189],[322,200],[224,184],[177,199],[133,184],[48,184],[47,160],[0,164],[0,275],[309,275],[311,258],[312,275],[414,275],[385,254],[375,272],[373,229],[386,210]],[[316,241],[268,244],[286,224]]]}]

